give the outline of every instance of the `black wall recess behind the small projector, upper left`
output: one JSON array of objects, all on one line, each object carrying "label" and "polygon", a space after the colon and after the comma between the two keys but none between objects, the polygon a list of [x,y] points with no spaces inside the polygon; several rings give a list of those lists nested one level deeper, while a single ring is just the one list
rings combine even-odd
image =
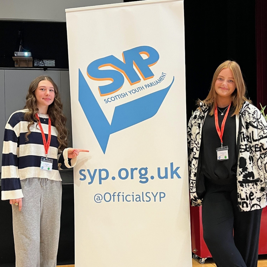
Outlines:
[{"label": "black wall recess behind the small projector, upper left", "polygon": [[66,23],[19,21],[0,21],[0,68],[15,67],[12,57],[21,38],[33,59],[54,59],[54,68],[69,68]]}]

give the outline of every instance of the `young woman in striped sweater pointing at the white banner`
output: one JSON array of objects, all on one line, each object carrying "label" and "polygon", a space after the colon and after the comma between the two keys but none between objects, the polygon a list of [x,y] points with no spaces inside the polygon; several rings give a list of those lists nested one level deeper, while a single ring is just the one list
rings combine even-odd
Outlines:
[{"label": "young woman in striped sweater pointing at the white banner", "polygon": [[49,76],[30,84],[23,110],[5,127],[2,200],[13,212],[16,267],[56,267],[61,213],[59,169],[76,164],[79,152],[67,148],[66,117],[57,85]]}]

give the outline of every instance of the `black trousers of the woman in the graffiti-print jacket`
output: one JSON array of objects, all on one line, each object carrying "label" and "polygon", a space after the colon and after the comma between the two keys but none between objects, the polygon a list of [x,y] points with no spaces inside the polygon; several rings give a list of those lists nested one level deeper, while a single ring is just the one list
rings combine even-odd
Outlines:
[{"label": "black trousers of the woman in the graffiti-print jacket", "polygon": [[236,184],[206,182],[205,187],[203,235],[215,264],[218,267],[257,267],[262,209],[239,211]]}]

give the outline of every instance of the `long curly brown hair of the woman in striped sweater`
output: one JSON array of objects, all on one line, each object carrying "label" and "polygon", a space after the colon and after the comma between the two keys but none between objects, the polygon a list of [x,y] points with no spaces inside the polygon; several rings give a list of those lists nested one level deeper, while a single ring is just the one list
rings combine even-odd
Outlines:
[{"label": "long curly brown hair of the woman in striped sweater", "polygon": [[[28,121],[28,133],[26,133],[26,140],[29,141],[28,135],[31,133],[30,127],[34,125],[34,122],[39,122],[35,114],[38,112],[37,100],[35,97],[35,90],[38,87],[40,81],[48,80],[53,84],[55,90],[55,98],[52,104],[48,106],[47,113],[51,119],[51,123],[57,129],[58,135],[57,140],[59,143],[58,150],[63,151],[64,148],[68,146],[68,130],[66,128],[66,116],[62,112],[62,103],[60,100],[60,95],[58,93],[58,88],[55,82],[49,76],[38,76],[30,84],[27,96],[26,96],[26,105],[24,109],[29,109],[25,112],[24,119]],[[36,124],[36,128],[37,128]]]}]

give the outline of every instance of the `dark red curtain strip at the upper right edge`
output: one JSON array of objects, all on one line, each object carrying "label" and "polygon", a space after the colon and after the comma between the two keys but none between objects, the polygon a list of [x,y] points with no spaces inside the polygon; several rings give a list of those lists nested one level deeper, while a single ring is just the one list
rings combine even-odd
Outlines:
[{"label": "dark red curtain strip at the upper right edge", "polygon": [[[267,105],[267,1],[256,0],[257,107]],[[266,113],[266,112],[265,112]]]}]

